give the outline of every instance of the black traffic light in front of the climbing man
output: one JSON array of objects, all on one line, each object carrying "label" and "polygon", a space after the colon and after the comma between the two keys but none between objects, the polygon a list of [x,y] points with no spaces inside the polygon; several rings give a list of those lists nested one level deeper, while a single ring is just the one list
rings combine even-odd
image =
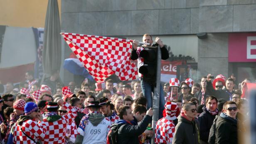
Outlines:
[{"label": "black traffic light in front of the climbing man", "polygon": [[155,46],[146,46],[140,52],[140,57],[144,59],[144,65],[140,66],[139,73],[143,74],[143,81],[155,83],[157,68],[158,49]]}]

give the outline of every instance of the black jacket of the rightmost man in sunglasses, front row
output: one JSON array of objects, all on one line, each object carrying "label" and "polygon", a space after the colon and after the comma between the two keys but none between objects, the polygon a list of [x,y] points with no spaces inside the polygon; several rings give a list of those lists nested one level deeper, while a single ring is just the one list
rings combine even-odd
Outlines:
[{"label": "black jacket of the rightmost man in sunglasses, front row", "polygon": [[216,122],[216,144],[237,143],[237,120],[221,113]]}]

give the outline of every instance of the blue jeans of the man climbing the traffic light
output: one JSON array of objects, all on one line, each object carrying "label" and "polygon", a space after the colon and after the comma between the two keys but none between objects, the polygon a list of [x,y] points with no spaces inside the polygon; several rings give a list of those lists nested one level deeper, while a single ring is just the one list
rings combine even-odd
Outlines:
[{"label": "blue jeans of the man climbing the traffic light", "polygon": [[[149,109],[153,105],[152,92],[154,91],[154,86],[143,80],[140,81],[140,85],[141,85],[141,90],[143,95],[147,98],[147,109]],[[162,89],[162,85],[160,85],[159,116],[158,116],[159,119],[163,117],[162,111],[165,108],[165,97],[163,93],[164,92]]]}]

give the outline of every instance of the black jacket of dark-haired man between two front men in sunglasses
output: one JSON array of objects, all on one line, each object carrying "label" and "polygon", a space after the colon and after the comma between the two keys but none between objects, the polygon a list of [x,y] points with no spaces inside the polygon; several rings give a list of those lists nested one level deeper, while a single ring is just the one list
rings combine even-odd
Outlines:
[{"label": "black jacket of dark-haired man between two front men in sunglasses", "polygon": [[206,110],[205,106],[202,108],[202,110],[203,112],[198,117],[198,121],[200,124],[200,139],[207,143],[210,129],[212,127],[212,123],[216,115],[210,114],[210,112]]}]

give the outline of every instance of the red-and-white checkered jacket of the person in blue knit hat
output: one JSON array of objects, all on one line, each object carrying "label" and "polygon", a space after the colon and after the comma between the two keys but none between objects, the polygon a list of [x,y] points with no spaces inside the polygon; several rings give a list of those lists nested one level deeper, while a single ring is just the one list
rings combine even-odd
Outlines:
[{"label": "red-and-white checkered jacket of the person in blue knit hat", "polygon": [[36,142],[38,139],[43,139],[46,136],[46,127],[38,124],[34,120],[25,120],[22,125],[17,123],[14,125],[13,142],[14,144],[34,144],[34,142],[25,136],[23,132],[34,139]]}]

